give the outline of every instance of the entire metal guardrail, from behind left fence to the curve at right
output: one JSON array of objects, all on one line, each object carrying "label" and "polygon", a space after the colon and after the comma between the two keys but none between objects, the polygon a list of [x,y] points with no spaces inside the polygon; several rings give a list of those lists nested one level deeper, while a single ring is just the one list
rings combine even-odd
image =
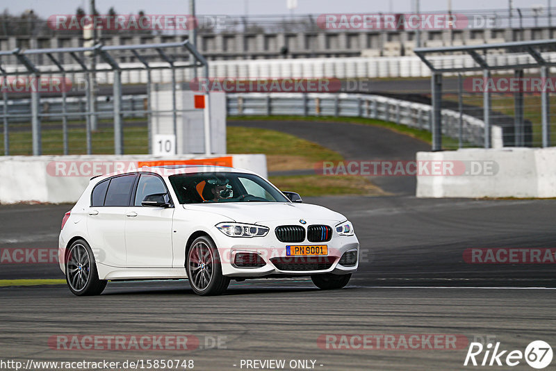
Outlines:
[{"label": "entire metal guardrail, from behind left fence to the curve at right", "polygon": [[[122,113],[124,118],[145,118],[147,95],[124,95]],[[8,101],[10,123],[28,123],[31,117],[31,99]],[[62,113],[61,98],[43,98],[41,101],[41,120],[59,121]],[[99,118],[110,118],[113,113],[113,100],[97,98]],[[69,97],[65,110],[67,119],[83,120],[86,115],[87,97]],[[227,115],[229,116],[332,116],[366,117],[382,119],[404,126],[431,131],[432,106],[393,99],[373,94],[330,94],[330,93],[241,93],[227,94]],[[0,101],[3,109],[3,102]],[[2,110],[0,109],[0,111]],[[170,114],[170,112],[168,113]],[[460,138],[460,142],[482,147],[484,142],[484,122],[471,115],[456,110],[443,109],[442,133],[450,138]],[[492,126],[493,146],[502,147],[502,130]]]}]

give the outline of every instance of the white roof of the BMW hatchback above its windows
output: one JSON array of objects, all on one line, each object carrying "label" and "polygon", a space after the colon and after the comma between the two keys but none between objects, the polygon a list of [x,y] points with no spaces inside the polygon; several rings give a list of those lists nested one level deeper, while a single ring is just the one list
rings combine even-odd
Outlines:
[{"label": "white roof of the BMW hatchback above its windows", "polygon": [[108,179],[111,176],[115,175],[124,175],[124,174],[135,174],[138,172],[152,172],[154,174],[158,174],[160,176],[172,176],[178,174],[195,174],[199,172],[242,172],[247,174],[256,174],[250,170],[239,169],[237,167],[229,167],[229,166],[217,166],[217,165],[160,165],[160,166],[143,166],[138,167],[136,170],[126,170],[126,171],[118,171],[118,172],[111,172],[109,174],[103,174],[100,176],[95,176],[91,178],[91,180],[101,181],[104,179]]}]

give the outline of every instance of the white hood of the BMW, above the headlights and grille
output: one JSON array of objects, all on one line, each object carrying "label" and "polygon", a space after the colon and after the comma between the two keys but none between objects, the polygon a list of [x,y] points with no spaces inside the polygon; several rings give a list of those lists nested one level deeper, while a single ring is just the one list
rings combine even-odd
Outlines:
[{"label": "white hood of the BMW, above the headlights and grille", "polygon": [[222,204],[188,204],[183,205],[187,210],[204,211],[220,214],[230,222],[256,224],[274,220],[304,219],[330,220],[343,222],[346,218],[341,213],[329,210],[323,206],[311,204],[297,204],[293,202],[229,202]]}]

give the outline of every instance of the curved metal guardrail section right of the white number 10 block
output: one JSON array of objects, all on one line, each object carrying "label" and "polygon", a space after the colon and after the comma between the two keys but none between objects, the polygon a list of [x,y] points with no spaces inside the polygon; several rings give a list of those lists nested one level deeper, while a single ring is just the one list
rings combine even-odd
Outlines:
[{"label": "curved metal guardrail section right of the white number 10 block", "polygon": [[[227,94],[230,116],[366,117],[431,131],[432,106],[372,94],[246,93]],[[441,110],[442,133],[482,147],[484,122],[455,110]],[[502,147],[502,130],[492,126],[493,147]]]}]

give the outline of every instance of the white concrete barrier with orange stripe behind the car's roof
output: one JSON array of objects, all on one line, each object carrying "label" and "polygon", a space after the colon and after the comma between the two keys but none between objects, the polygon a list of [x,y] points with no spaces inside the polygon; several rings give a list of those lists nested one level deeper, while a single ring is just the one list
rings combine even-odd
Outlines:
[{"label": "white concrete barrier with orange stripe behind the car's roof", "polygon": [[1,156],[0,204],[75,202],[95,175],[133,171],[147,165],[205,164],[234,166],[267,177],[263,154]]}]

